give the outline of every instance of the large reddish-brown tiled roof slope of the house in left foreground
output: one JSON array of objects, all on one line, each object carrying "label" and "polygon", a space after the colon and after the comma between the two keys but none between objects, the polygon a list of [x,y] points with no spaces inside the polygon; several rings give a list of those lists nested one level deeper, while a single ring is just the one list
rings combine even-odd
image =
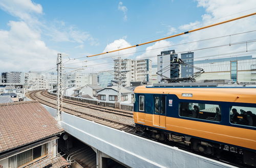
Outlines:
[{"label": "large reddish-brown tiled roof slope of the house in left foreground", "polygon": [[0,153],[62,131],[37,101],[0,104]]}]

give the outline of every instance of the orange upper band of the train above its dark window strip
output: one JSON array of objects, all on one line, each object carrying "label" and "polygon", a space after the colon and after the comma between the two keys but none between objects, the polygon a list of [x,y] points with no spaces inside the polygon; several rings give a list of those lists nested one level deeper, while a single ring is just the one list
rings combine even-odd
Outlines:
[{"label": "orange upper band of the train above its dark window strip", "polygon": [[134,93],[174,94],[179,99],[188,100],[256,103],[256,87],[139,86],[135,88]]}]

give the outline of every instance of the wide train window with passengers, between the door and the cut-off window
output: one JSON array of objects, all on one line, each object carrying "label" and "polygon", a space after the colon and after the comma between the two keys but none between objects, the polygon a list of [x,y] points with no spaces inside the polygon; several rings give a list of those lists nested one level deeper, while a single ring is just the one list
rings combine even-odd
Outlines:
[{"label": "wide train window with passengers, between the door and the cut-off window", "polygon": [[221,108],[218,104],[181,102],[180,116],[210,121],[221,121]]}]

